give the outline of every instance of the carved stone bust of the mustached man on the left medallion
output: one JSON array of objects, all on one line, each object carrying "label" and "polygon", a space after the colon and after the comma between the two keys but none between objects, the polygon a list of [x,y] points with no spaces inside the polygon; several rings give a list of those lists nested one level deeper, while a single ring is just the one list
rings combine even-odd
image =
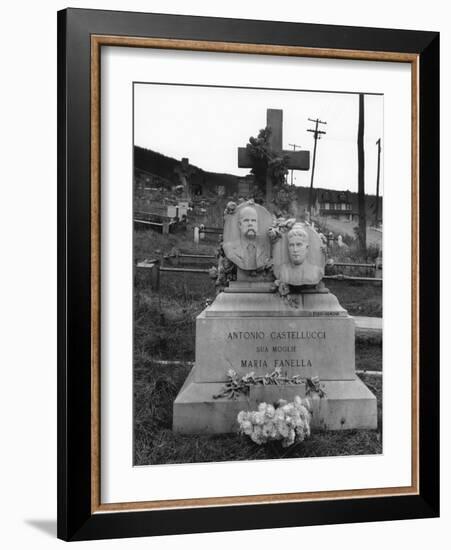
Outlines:
[{"label": "carved stone bust of the mustached man on the left medallion", "polygon": [[244,270],[263,267],[269,259],[269,246],[267,237],[258,234],[257,209],[253,205],[243,206],[237,219],[239,238],[224,242],[225,255]]}]

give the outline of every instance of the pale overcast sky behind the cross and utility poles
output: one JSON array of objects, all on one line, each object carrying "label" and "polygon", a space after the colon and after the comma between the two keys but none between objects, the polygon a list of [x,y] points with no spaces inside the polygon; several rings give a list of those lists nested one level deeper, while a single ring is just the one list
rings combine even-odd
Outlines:
[{"label": "pale overcast sky behind the cross and utility poles", "polygon": [[[283,148],[311,151],[319,118],[327,133],[318,141],[314,187],[357,191],[357,94],[135,84],[134,143],[204,170],[246,175],[237,148],[266,125],[266,109],[283,110]],[[383,96],[365,95],[365,191],[376,193],[377,145],[383,146]],[[296,148],[298,149],[298,147]],[[310,185],[311,170],[295,171],[295,185]],[[289,176],[290,181],[291,176]],[[383,183],[383,147],[381,188]]]}]

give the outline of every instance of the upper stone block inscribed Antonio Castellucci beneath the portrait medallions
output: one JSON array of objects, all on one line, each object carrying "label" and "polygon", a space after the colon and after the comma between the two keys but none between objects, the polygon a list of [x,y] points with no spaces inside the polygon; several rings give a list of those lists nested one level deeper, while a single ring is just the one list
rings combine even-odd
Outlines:
[{"label": "upper stone block inscribed Antonio Castellucci beneath the portrait medallions", "polygon": [[225,381],[229,369],[241,377],[275,368],[289,377],[355,379],[354,319],[333,294],[304,293],[292,307],[274,293],[236,292],[237,284],[196,319],[196,382]]}]

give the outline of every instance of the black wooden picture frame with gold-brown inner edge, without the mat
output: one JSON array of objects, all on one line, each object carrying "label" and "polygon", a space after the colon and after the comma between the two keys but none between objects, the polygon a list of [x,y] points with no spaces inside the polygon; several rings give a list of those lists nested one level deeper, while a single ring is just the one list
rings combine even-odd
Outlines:
[{"label": "black wooden picture frame with gold-brown inner edge, without the mat", "polygon": [[[162,48],[393,61],[412,68],[412,483],[317,493],[100,501],[100,51]],[[439,34],[67,9],[58,13],[58,537],[439,514]]]}]

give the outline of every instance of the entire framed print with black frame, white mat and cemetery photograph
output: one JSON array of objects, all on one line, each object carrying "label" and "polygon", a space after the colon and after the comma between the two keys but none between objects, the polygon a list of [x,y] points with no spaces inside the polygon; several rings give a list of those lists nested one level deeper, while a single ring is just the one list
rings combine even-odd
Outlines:
[{"label": "entire framed print with black frame, white mat and cemetery photograph", "polygon": [[58,536],[439,513],[439,35],[58,14]]}]

